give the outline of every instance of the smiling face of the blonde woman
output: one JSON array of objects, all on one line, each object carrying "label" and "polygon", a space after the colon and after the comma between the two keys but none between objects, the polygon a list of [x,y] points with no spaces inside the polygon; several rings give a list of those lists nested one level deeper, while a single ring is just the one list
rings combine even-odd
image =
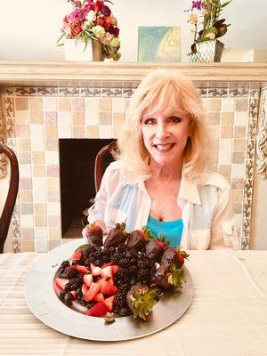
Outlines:
[{"label": "smiling face of the blonde woman", "polygon": [[190,136],[189,114],[183,109],[150,108],[142,117],[142,138],[150,158],[160,166],[182,162],[183,151]]}]

